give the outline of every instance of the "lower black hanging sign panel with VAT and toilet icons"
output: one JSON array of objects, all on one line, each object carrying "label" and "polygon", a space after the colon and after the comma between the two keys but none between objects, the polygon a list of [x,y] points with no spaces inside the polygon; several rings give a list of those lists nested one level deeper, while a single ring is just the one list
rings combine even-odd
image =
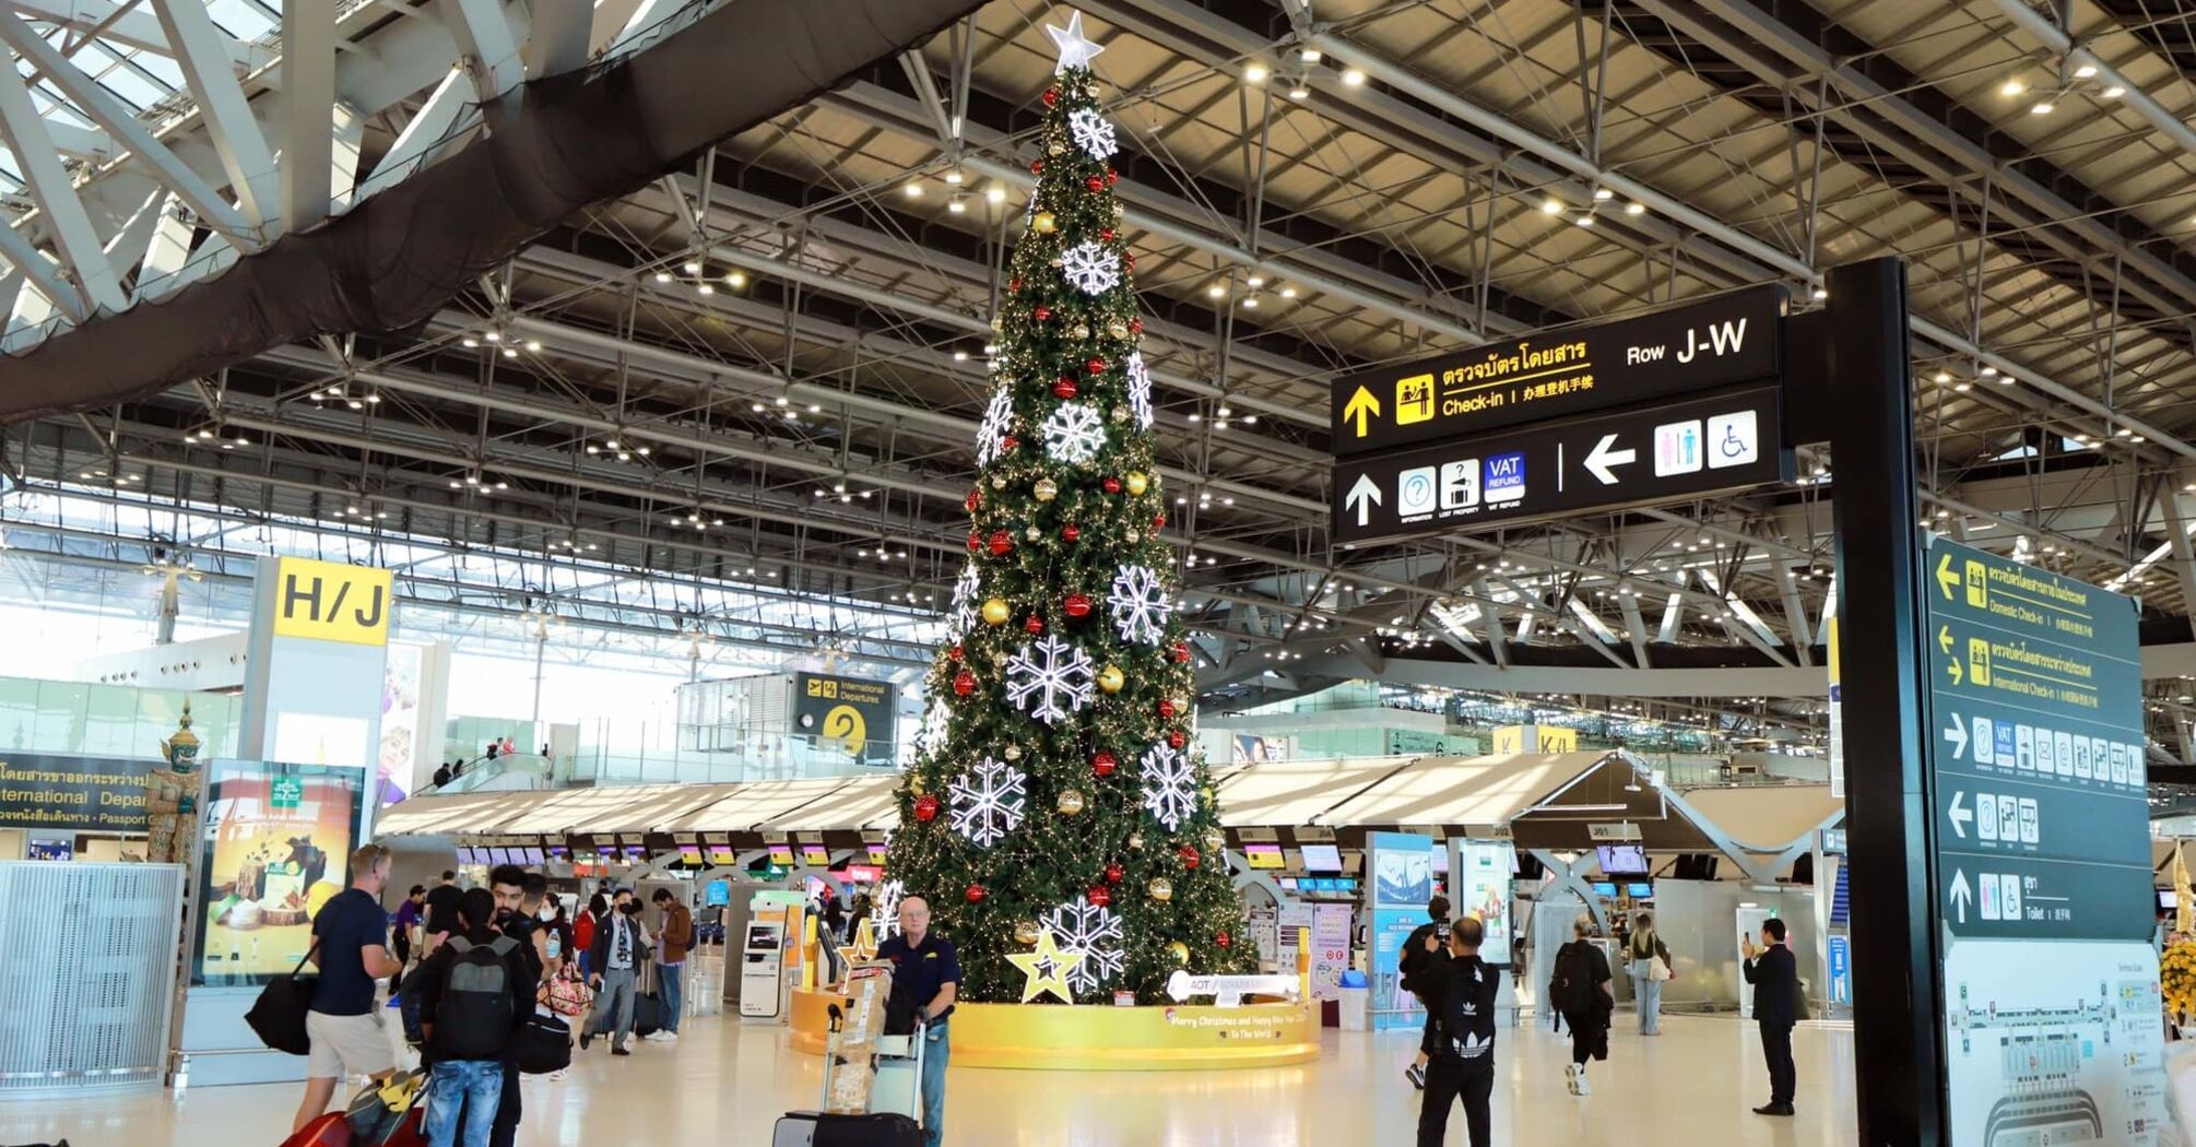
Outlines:
[{"label": "lower black hanging sign panel with VAT and toilet icons", "polygon": [[1335,461],[1335,541],[1366,543],[1788,481],[1777,389]]}]

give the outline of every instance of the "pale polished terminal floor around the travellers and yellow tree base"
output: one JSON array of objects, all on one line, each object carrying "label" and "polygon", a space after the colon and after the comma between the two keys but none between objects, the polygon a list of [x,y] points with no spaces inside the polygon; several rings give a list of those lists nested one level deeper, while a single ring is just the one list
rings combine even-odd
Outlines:
[{"label": "pale polished terminal floor around the travellers and yellow tree base", "polygon": [[[1733,1017],[1667,1017],[1640,1039],[1616,1017],[1610,1061],[1592,1096],[1564,1090],[1568,1039],[1542,1028],[1498,1042],[1495,1143],[1502,1147],[1634,1145],[1682,1129],[1687,1147],[1829,1147],[1856,1143],[1853,1037],[1805,1026],[1794,1039],[1801,1118],[1748,1112],[1768,1099],[1752,1026]],[[1342,1147],[1403,1145],[1419,1092],[1401,1068],[1416,1033],[1326,1033],[1318,1064],[1265,1072],[1076,1074],[955,1068],[946,1145],[953,1147]],[[637,1044],[613,1059],[604,1044],[564,1081],[525,1083],[520,1147],[718,1143],[762,1147],[791,1107],[813,1107],[821,1064],[784,1046],[775,1026],[725,1017],[687,1022],[674,1046]],[[274,1147],[299,1090],[191,1088],[182,1099],[0,1103],[0,1143],[75,1147]],[[1465,1143],[1463,1118],[1447,1143]]]}]

